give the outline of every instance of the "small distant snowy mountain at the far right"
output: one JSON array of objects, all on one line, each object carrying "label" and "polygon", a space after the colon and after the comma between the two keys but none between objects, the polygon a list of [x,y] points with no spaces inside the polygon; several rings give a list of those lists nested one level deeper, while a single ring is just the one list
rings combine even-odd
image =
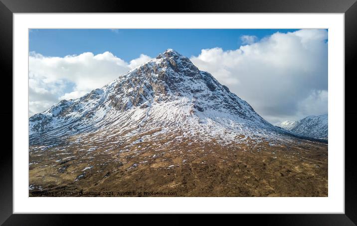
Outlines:
[{"label": "small distant snowy mountain at the far right", "polygon": [[328,139],[328,114],[308,116],[298,121],[284,121],[277,126],[301,136]]}]

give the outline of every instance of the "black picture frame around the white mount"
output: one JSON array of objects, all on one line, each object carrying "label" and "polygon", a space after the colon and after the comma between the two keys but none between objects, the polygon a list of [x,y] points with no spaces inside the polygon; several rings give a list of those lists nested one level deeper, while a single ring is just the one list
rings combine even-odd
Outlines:
[{"label": "black picture frame around the white mount", "polygon": [[[264,225],[357,225],[357,174],[352,146],[357,122],[355,95],[351,80],[357,62],[357,3],[356,0],[180,0],[173,2],[124,1],[124,0],[0,0],[0,59],[2,62],[2,95],[0,111],[3,145],[0,154],[0,224],[3,225],[68,225],[73,218],[81,219],[82,225],[102,222],[96,215],[28,215],[12,214],[12,16],[13,13],[53,12],[267,12],[267,13],[345,13],[345,214],[299,214],[299,215],[240,215],[239,221],[263,222]],[[341,75],[343,76],[343,75]],[[7,89],[7,90],[6,90]],[[12,121],[9,120],[12,118]],[[11,124],[11,125],[10,125]],[[6,129],[6,130],[5,130]],[[8,146],[9,148],[4,148]],[[349,147],[349,148],[348,148]],[[10,149],[11,148],[11,149]],[[108,218],[117,219],[115,215]],[[150,217],[149,217],[150,218]],[[205,219],[210,219],[210,217]],[[117,219],[118,220],[118,219]],[[135,223],[147,222],[135,218]],[[224,221],[224,220],[222,220]]]}]

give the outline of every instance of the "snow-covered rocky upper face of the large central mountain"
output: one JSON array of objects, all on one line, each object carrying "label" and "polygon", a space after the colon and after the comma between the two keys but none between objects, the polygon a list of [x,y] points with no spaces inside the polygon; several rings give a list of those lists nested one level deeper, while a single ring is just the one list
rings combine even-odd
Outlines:
[{"label": "snow-covered rocky upper face of the large central mountain", "polygon": [[29,118],[30,143],[83,133],[131,136],[153,130],[224,140],[285,133],[172,49],[100,89]]}]

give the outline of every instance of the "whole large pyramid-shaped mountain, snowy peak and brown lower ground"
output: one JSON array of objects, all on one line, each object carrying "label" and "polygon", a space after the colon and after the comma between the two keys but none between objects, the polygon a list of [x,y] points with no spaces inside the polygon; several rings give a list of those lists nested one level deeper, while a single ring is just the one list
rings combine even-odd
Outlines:
[{"label": "whole large pyramid-shaped mountain, snowy peak and brown lower ground", "polygon": [[29,192],[327,196],[327,149],[168,49],[29,118]]}]

